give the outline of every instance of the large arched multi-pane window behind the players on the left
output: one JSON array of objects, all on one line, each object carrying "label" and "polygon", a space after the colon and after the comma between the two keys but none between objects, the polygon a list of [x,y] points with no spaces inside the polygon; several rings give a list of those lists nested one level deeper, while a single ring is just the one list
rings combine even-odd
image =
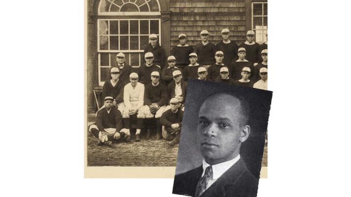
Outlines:
[{"label": "large arched multi-pane window behind the players on the left", "polygon": [[109,68],[117,65],[116,55],[119,52],[125,54],[127,64],[139,67],[144,48],[149,44],[149,35],[156,34],[158,42],[161,43],[160,15],[158,0],[100,0],[98,6],[99,86],[107,80]]}]

